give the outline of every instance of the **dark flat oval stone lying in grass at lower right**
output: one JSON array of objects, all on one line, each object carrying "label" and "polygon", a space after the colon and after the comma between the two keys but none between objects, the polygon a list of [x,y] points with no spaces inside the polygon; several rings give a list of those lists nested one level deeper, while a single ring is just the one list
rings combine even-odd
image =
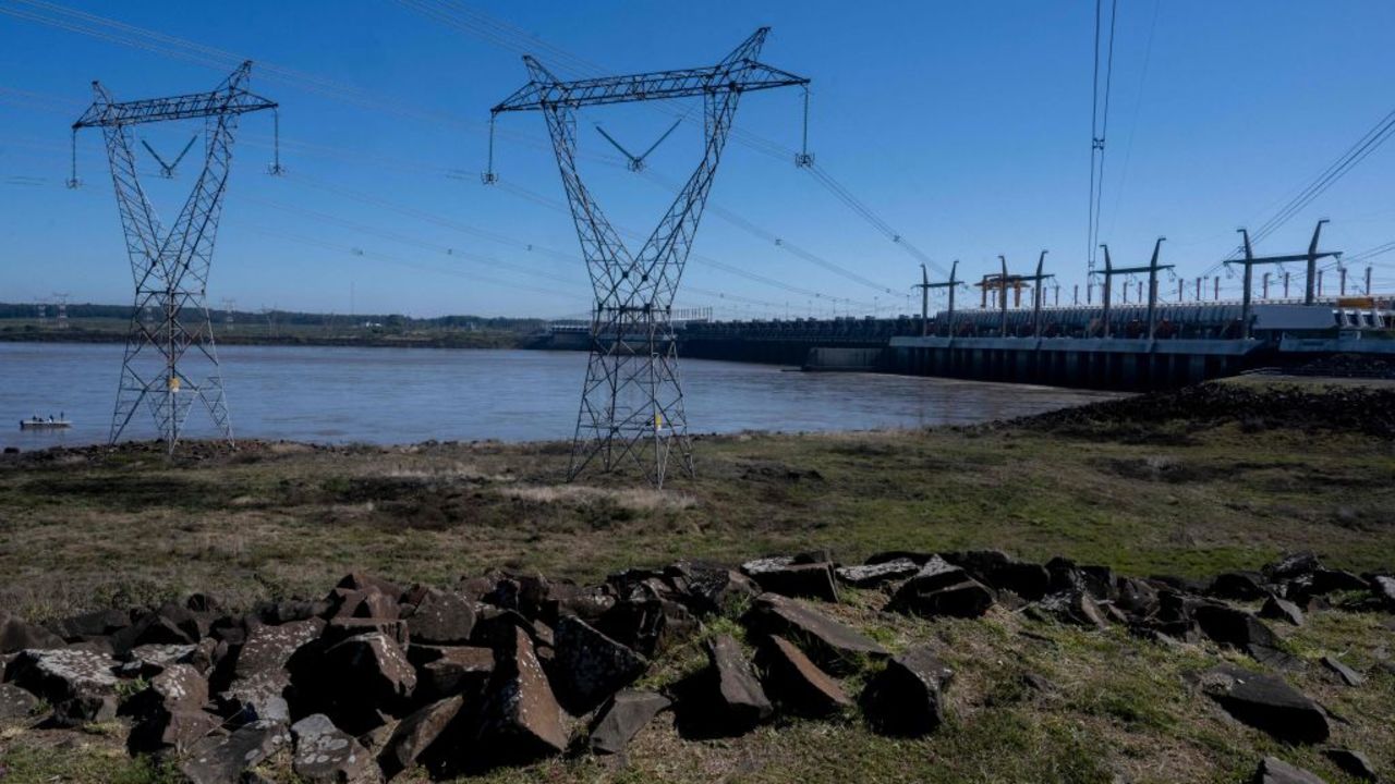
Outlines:
[{"label": "dark flat oval stone lying in grass at lower right", "polygon": [[1274,675],[1222,664],[1201,672],[1201,691],[1237,720],[1290,744],[1320,744],[1331,728],[1327,713]]}]

